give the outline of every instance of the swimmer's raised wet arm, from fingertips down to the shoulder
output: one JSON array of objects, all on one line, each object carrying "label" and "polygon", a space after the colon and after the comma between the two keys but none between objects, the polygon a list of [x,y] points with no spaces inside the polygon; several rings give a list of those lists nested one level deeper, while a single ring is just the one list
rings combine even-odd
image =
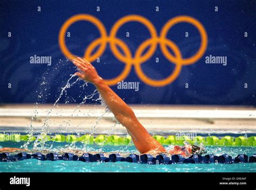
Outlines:
[{"label": "swimmer's raised wet arm, from fingertips down to the shoulder", "polygon": [[165,152],[164,147],[156,139],[152,138],[142,124],[139,123],[132,109],[107,86],[89,62],[77,58],[73,63],[83,72],[76,73],[77,76],[96,86],[114,117],[126,127],[140,153],[150,151]]}]

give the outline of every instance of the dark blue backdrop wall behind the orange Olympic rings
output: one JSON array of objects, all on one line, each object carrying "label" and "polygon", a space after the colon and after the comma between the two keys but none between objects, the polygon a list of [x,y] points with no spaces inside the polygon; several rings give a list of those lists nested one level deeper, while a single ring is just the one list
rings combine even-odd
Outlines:
[{"label": "dark blue backdrop wall behind the orange Olympic rings", "polygon": [[[180,15],[197,19],[207,32],[204,55],[191,65],[183,65],[169,84],[146,84],[132,66],[124,82],[139,82],[138,90],[111,86],[127,103],[256,105],[255,1],[1,1],[0,7],[1,103],[55,102],[75,72],[60,50],[59,31],[67,19],[84,13],[97,17],[107,33],[118,19],[132,14],[149,19],[158,34],[169,19]],[[73,23],[66,32],[66,46],[77,56],[83,56],[87,46],[100,37],[96,26],[86,21]],[[134,56],[150,32],[143,24],[129,22],[120,27],[117,38]],[[167,38],[184,59],[195,55],[201,43],[197,28],[185,22],[174,25]],[[31,56],[48,56],[51,63],[32,64]],[[209,56],[221,56],[226,62],[208,64]],[[176,64],[158,46],[141,67],[146,76],[159,80],[169,76]],[[93,65],[105,79],[117,77],[125,66],[109,45]],[[68,88],[60,103],[80,103],[85,94],[95,90],[91,84],[82,85],[79,81]]]}]

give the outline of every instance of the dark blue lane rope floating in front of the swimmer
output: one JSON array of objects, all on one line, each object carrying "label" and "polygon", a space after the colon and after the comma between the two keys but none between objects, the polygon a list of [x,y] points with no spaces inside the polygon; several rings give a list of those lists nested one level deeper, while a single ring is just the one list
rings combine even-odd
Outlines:
[{"label": "dark blue lane rope floating in front of the swimmer", "polygon": [[210,164],[210,163],[222,163],[222,164],[232,164],[232,163],[246,163],[246,162],[256,162],[256,154],[248,157],[246,154],[239,154],[237,157],[232,158],[230,155],[198,155],[193,154],[188,158],[183,157],[180,154],[174,154],[169,157],[166,154],[159,154],[154,157],[151,154],[130,154],[128,157],[123,157],[119,153],[110,154],[108,157],[104,153],[90,154],[84,153],[82,156],[78,156],[73,153],[65,153],[59,155],[58,153],[48,153],[42,154],[40,152],[29,154],[26,152],[21,152],[15,155],[11,153],[0,153],[0,161],[20,161],[26,159],[38,159],[38,160],[69,160],[69,161],[83,161],[83,162],[134,162],[140,164]]}]

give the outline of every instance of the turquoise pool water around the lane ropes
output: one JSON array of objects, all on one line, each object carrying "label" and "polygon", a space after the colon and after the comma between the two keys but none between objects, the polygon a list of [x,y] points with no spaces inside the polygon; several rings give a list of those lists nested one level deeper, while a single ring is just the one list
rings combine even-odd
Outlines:
[{"label": "turquoise pool water around the lane ropes", "polygon": [[[2,147],[21,147],[24,142],[1,142]],[[84,152],[129,152],[138,153],[130,146],[99,146],[84,145],[77,142],[70,145],[66,142],[48,142],[52,152],[73,146]],[[256,147],[206,147],[207,154],[228,154],[232,157],[238,154],[253,155]],[[172,164],[147,165],[129,162],[82,162],[82,161],[40,161],[27,159],[16,162],[0,162],[0,172],[256,172],[256,163],[242,164]]]}]

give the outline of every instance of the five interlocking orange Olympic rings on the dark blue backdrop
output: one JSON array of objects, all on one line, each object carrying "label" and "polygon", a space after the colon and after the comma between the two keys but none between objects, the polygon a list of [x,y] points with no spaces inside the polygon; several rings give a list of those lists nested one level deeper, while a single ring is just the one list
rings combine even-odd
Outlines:
[{"label": "five interlocking orange Olympic rings on the dark blue backdrop", "polygon": [[[204,26],[199,21],[197,21],[197,19],[193,17],[177,16],[170,19],[163,26],[163,28],[160,31],[160,36],[158,36],[156,28],[154,28],[153,24],[147,18],[139,15],[128,15],[120,18],[116,23],[114,23],[110,31],[110,35],[107,35],[106,29],[103,23],[100,22],[98,18],[92,15],[79,14],[69,18],[62,25],[62,28],[60,29],[60,32],[59,32],[60,49],[63,52],[63,54],[71,60],[76,58],[77,56],[73,55],[66,47],[65,34],[69,26],[78,21],[91,22],[98,28],[100,32],[100,37],[93,40],[93,42],[89,46],[87,46],[87,49],[85,50],[85,53],[84,53],[84,58],[86,60],[88,60],[89,62],[95,61],[97,58],[103,55],[107,44],[109,44],[113,55],[120,62],[125,64],[124,70],[116,78],[105,79],[105,82],[108,85],[115,85],[121,80],[124,80],[129,75],[132,65],[134,65],[134,69],[135,69],[135,72],[137,73],[137,76],[144,83],[151,86],[165,86],[167,84],[172,83],[179,76],[181,67],[183,65],[191,65],[193,63],[196,63],[204,55],[207,48],[207,33],[204,29]],[[129,47],[123,42],[123,40],[116,37],[120,27],[128,22],[139,22],[145,25],[151,35],[151,38],[146,39],[142,44],[139,45],[134,56],[132,56],[132,53]],[[166,38],[167,32],[172,28],[172,26],[180,22],[186,22],[194,25],[198,29],[201,37],[199,50],[195,53],[195,55],[186,59],[183,59],[178,46],[174,44],[172,40]],[[165,58],[169,60],[171,63],[175,64],[175,68],[173,72],[170,74],[170,76],[160,80],[147,77],[141,67],[141,64],[145,63],[147,60],[149,60],[152,57],[153,53],[156,51],[158,44]],[[93,50],[97,46],[99,46],[98,50],[92,54]],[[124,54],[118,50],[117,46],[119,46],[119,48],[122,49]],[[147,52],[145,52],[143,55],[143,52],[148,47],[150,47],[149,50],[147,50]],[[174,56],[170,53],[170,51],[168,50],[168,47],[172,49]]]}]

